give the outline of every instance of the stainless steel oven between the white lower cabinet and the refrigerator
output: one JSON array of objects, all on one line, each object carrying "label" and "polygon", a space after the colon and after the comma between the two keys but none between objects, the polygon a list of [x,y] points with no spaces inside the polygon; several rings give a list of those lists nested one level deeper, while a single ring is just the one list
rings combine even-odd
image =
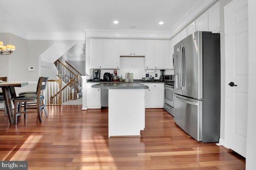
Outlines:
[{"label": "stainless steel oven between the white lower cabinet and the refrigerator", "polygon": [[174,116],[174,83],[164,84],[164,110]]}]

